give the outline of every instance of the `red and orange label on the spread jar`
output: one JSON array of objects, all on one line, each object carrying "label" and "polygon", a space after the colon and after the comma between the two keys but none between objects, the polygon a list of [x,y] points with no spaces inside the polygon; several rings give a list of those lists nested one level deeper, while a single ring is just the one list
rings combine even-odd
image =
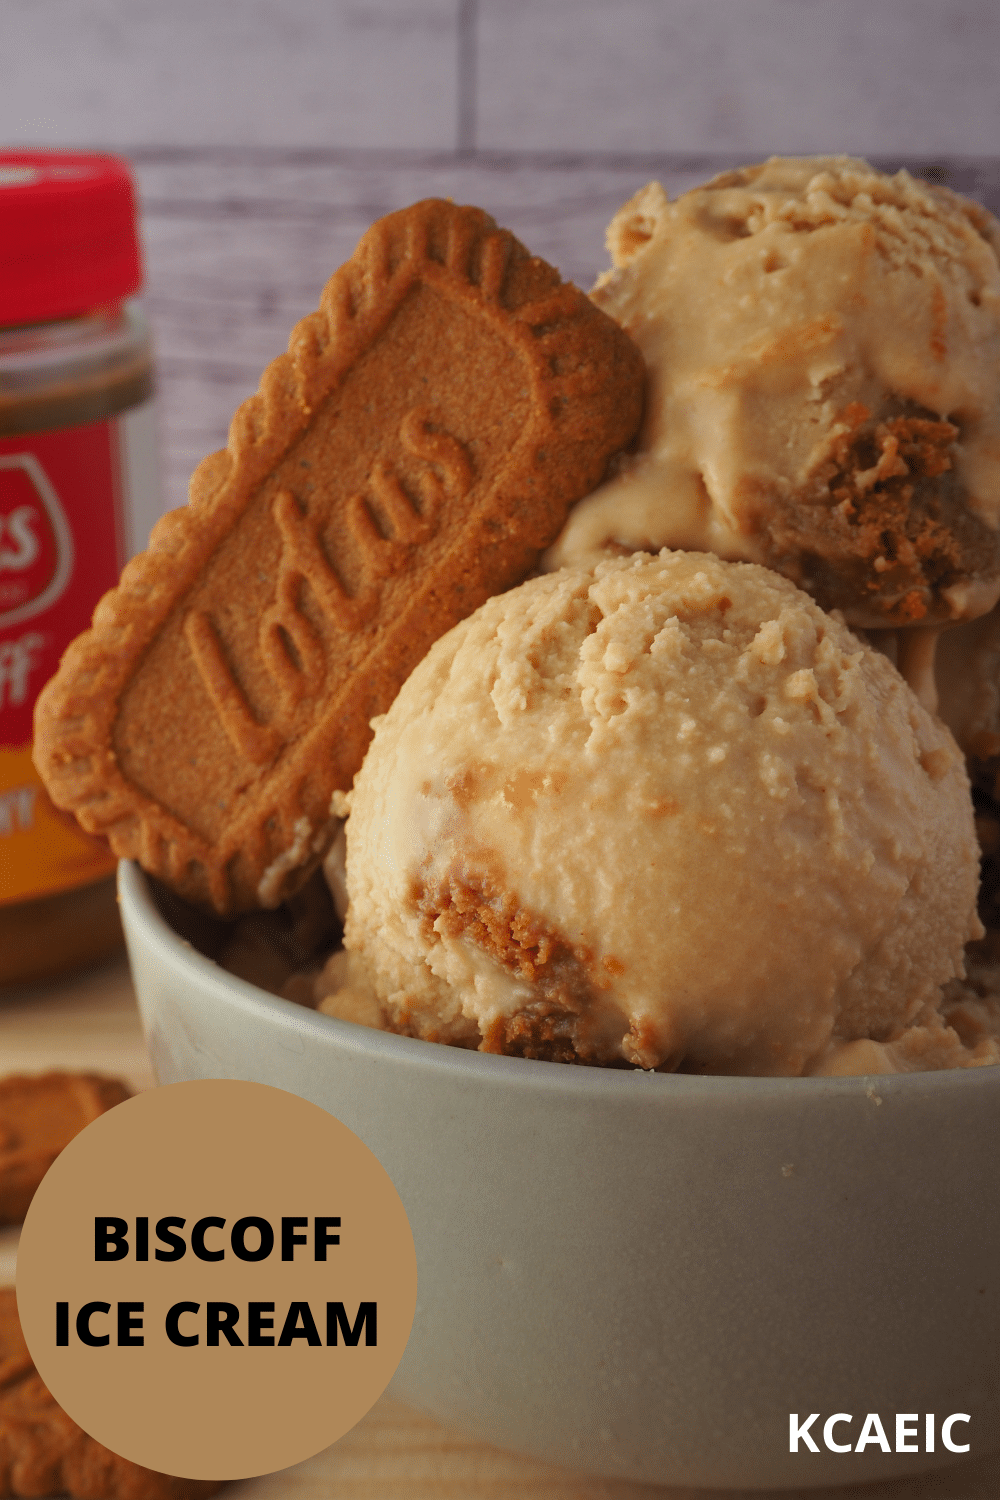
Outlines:
[{"label": "red and orange label on the spread jar", "polygon": [[[129,420],[130,418],[130,420]],[[135,412],[0,438],[0,904],[114,868],[31,765],[34,699],[126,561]]]}]

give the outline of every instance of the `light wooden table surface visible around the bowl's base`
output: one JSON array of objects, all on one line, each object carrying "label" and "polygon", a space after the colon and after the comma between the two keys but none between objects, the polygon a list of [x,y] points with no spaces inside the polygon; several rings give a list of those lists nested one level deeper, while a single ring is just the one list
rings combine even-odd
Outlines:
[{"label": "light wooden table surface visible around the bowl's base", "polygon": [[[0,1074],[96,1070],[154,1088],[124,958],[73,980],[0,992]],[[0,1230],[0,1286],[13,1281],[16,1230]],[[384,1396],[364,1420],[292,1468],[246,1479],[225,1500],[706,1500],[703,1490],[582,1478],[501,1454]],[[939,1474],[823,1491],[714,1491],[715,1500],[997,1500],[1000,1458]]]}]

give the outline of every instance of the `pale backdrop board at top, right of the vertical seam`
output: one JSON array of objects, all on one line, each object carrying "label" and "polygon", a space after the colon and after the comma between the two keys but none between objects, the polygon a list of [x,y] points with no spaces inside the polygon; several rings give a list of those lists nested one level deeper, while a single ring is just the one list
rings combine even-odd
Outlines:
[{"label": "pale backdrop board at top, right of the vertical seam", "polygon": [[481,0],[478,141],[556,150],[1000,150],[1000,6]]}]

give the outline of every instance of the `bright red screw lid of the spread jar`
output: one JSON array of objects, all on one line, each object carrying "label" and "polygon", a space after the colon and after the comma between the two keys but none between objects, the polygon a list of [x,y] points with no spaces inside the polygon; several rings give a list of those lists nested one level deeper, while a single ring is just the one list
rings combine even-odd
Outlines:
[{"label": "bright red screw lid of the spread jar", "polygon": [[0,152],[0,326],[69,318],[120,302],[141,284],[124,162]]}]

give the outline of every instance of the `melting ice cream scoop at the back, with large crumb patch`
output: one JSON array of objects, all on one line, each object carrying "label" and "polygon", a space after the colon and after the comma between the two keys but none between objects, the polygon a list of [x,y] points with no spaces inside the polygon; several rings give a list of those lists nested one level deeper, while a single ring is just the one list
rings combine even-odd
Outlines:
[{"label": "melting ice cream scoop at the back, with large crumb patch", "polygon": [[612,220],[594,300],[649,366],[640,452],[571,513],[763,562],[858,626],[1000,592],[1000,226],[907,172],[775,158]]}]

